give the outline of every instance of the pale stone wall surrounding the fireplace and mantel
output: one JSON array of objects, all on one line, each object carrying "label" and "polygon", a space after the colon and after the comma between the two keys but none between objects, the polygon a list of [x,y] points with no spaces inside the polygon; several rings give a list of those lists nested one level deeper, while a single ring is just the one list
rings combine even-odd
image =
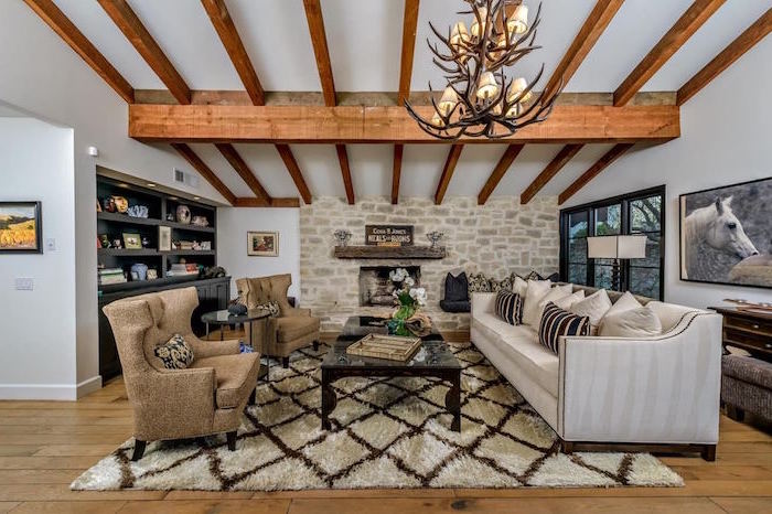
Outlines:
[{"label": "pale stone wall surrounding the fireplace and mantel", "polygon": [[[365,225],[415,225],[417,245],[428,245],[426,234],[444,233],[448,249],[442,260],[337,259],[333,232],[352,232],[351,245],[364,245]],[[356,205],[339,197],[314,199],[300,208],[300,286],[302,307],[322,318],[322,330],[340,331],[346,318],[357,313],[387,313],[388,309],[358,304],[360,266],[417,265],[429,302],[426,312],[443,330],[469,328],[469,314],[443,312],[439,301],[448,271],[482,271],[503,279],[512,271],[532,269],[549,275],[558,270],[559,232],[557,199],[536,197],[521,205],[517,196],[494,196],[485,205],[475,197],[455,196],[442,205],[430,199],[365,196]]]}]

